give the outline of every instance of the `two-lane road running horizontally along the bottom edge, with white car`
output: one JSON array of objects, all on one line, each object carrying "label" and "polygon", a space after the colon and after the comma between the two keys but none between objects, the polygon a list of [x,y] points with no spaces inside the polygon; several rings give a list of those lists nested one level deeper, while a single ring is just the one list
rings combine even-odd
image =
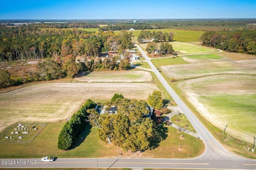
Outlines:
[{"label": "two-lane road running horizontally along the bottom edge, with white car", "polygon": [[[0,164],[0,168],[175,168],[175,169],[255,169],[250,160],[223,159],[123,159],[123,158],[57,158],[54,162],[40,159],[8,159],[15,164]],[[8,161],[6,160],[6,161]],[[5,160],[1,160],[5,161]],[[17,162],[18,161],[18,162]],[[36,161],[36,163],[34,162]],[[33,162],[33,164],[30,164]]]}]

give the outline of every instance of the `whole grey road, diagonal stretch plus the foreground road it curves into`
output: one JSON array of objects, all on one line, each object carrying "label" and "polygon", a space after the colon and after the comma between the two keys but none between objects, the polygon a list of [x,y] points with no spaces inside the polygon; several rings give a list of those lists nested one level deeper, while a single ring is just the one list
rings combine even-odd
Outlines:
[{"label": "whole grey road, diagonal stretch plus the foreground road it curves into", "polygon": [[[40,162],[40,159],[1,159],[0,168],[45,168],[45,167],[94,167],[94,168],[175,168],[175,169],[256,169],[256,160],[249,160],[241,158],[224,149],[215,138],[208,132],[208,130],[200,123],[194,114],[188,109],[173,89],[168,85],[166,80],[158,72],[156,67],[152,64],[146,53],[135,44],[141,51],[142,55],[150,65],[152,71],[156,74],[158,79],[162,82],[168,93],[172,96],[174,101],[180,107],[182,112],[189,119],[190,123],[198,132],[198,137],[204,141],[206,150],[204,154],[194,159],[97,159],[97,158],[57,158],[56,161]],[[15,164],[2,164],[2,160],[16,161]],[[31,161],[30,161],[31,160]],[[36,164],[29,164],[36,161]],[[18,162],[17,162],[18,161]],[[3,162],[5,163],[5,162]],[[9,162],[10,163],[10,162]],[[18,163],[18,164],[17,164]],[[23,163],[23,164],[21,164]]]}]

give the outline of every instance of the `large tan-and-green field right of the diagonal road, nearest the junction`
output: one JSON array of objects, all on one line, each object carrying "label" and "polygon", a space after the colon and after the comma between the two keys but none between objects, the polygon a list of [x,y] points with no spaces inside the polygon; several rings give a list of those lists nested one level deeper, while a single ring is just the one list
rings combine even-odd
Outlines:
[{"label": "large tan-and-green field right of the diagonal road, nearest the junction", "polygon": [[214,75],[176,82],[188,101],[216,127],[253,143],[256,123],[256,77]]}]

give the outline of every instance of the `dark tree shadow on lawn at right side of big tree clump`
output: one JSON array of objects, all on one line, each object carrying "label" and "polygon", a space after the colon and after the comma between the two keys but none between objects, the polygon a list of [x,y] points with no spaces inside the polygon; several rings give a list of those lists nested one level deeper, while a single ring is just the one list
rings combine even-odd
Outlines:
[{"label": "dark tree shadow on lawn at right side of big tree clump", "polygon": [[155,130],[156,130],[156,134],[151,140],[152,142],[150,144],[150,150],[157,148],[159,146],[159,143],[162,140],[165,140],[168,136],[167,134],[168,128],[164,127],[163,123],[161,123],[160,125],[157,125]]}]

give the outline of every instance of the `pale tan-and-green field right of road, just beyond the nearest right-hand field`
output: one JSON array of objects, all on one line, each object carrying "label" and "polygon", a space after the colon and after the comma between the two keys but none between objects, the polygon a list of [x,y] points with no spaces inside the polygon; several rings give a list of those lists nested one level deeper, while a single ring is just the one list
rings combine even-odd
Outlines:
[{"label": "pale tan-and-green field right of road, just beyond the nearest right-hand field", "polygon": [[[168,77],[175,77],[177,80],[216,74],[256,74],[256,59],[231,60],[226,57],[216,59],[218,57],[218,55],[213,54],[202,55],[202,57],[198,56],[197,58],[186,56],[183,58],[187,62],[189,61],[189,64],[164,65],[161,68]],[[162,60],[164,62],[165,59]],[[153,61],[158,62],[158,59]]]}]

